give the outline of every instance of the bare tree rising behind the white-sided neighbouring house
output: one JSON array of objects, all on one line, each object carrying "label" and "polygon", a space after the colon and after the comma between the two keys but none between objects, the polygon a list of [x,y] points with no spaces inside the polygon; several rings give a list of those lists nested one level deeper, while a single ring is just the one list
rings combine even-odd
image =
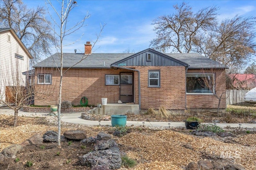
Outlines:
[{"label": "bare tree rising behind the white-sided neighbouring house", "polygon": [[21,0],[1,0],[1,27],[12,28],[34,57],[31,64],[48,55],[54,36],[48,27],[50,21],[44,18],[46,9],[42,6],[28,8]]}]

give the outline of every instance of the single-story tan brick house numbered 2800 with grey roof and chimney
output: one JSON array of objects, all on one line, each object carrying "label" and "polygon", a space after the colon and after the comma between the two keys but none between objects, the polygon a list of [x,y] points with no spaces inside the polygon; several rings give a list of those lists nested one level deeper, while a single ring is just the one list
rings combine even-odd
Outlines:
[{"label": "single-story tan brick house numbered 2800 with grey roof and chimney", "polygon": [[[63,54],[62,100],[79,105],[85,96],[88,104],[95,106],[101,98],[108,98],[108,103],[121,100],[139,104],[140,109],[216,109],[218,99],[213,93],[220,95],[226,90],[226,67],[196,53],[165,54],[150,48],[134,54],[92,53],[91,48],[86,42],[84,53]],[[35,105],[58,103],[59,55],[55,53],[34,66]],[[202,77],[214,81],[214,92]],[[225,107],[222,100],[220,108]]]}]

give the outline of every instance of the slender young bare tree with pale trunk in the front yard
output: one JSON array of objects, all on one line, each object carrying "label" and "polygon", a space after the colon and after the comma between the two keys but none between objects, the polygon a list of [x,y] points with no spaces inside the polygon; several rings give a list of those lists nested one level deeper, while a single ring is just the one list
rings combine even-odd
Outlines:
[{"label": "slender young bare tree with pale trunk in the front yard", "polygon": [[[81,27],[84,26],[84,22],[86,19],[88,19],[90,17],[90,15],[87,13],[84,18],[80,21],[78,21],[75,25],[68,25],[68,17],[70,15],[70,13],[72,12],[72,10],[77,6],[77,2],[75,0],[62,0],[59,2],[61,10],[58,11],[57,8],[52,4],[52,2],[50,0],[48,0],[48,5],[50,5],[52,7],[52,9],[54,10],[54,12],[57,15],[58,20],[54,20],[53,16],[52,20],[54,21],[54,25],[57,26],[57,29],[54,29],[54,27],[51,27],[52,31],[54,31],[54,35],[56,38],[58,38],[59,43],[60,44],[55,44],[55,47],[58,51],[59,54],[59,59],[60,59],[60,68],[58,68],[58,66],[56,65],[56,69],[59,70],[60,72],[60,84],[59,84],[59,101],[58,101],[58,147],[61,148],[61,144],[60,144],[60,132],[61,132],[61,127],[60,127],[60,109],[61,109],[61,101],[62,101],[62,78],[64,76],[64,74],[73,66],[75,66],[76,64],[80,63],[81,61],[83,61],[84,59],[86,59],[86,57],[88,57],[88,55],[83,55],[82,58],[80,59],[80,61],[78,61],[76,64],[70,66],[69,68],[67,68],[64,72],[63,72],[63,48],[69,44],[64,44],[64,38],[67,37],[68,35],[71,35],[72,33],[74,33],[75,31],[77,31],[78,29],[80,29]],[[104,28],[101,27],[100,33],[102,32]],[[95,43],[98,41],[100,37],[100,34],[97,35],[97,39],[94,42],[92,48],[94,47]],[[79,40],[79,39],[78,39]],[[76,41],[78,41],[76,40]],[[75,43],[76,41],[72,42]]]}]

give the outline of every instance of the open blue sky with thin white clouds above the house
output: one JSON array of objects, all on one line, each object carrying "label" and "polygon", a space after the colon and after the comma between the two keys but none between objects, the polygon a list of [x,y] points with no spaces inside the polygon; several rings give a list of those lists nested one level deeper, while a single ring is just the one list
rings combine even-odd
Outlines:
[{"label": "open blue sky with thin white clouds above the house", "polygon": [[[29,7],[45,6],[44,0],[24,0]],[[58,5],[57,1],[52,1]],[[255,0],[76,0],[76,7],[70,14],[69,24],[80,21],[88,12],[90,17],[85,21],[85,27],[66,37],[64,43],[76,41],[64,48],[65,53],[73,53],[74,49],[84,52],[86,41],[95,41],[100,32],[100,24],[106,26],[100,41],[94,47],[94,53],[123,53],[127,49],[132,52],[142,51],[150,45],[150,40],[156,37],[152,20],[158,16],[174,13],[173,5],[187,2],[192,10],[197,11],[208,6],[217,6],[218,19],[233,18],[236,14],[256,16]],[[52,10],[50,9],[50,12]],[[56,50],[52,49],[52,53]]]}]

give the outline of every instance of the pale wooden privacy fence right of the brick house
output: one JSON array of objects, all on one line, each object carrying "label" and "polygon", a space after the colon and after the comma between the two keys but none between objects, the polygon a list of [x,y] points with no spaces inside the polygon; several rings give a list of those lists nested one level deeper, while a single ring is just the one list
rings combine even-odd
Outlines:
[{"label": "pale wooden privacy fence right of the brick house", "polygon": [[246,104],[244,102],[244,96],[250,90],[226,90],[226,104]]}]

